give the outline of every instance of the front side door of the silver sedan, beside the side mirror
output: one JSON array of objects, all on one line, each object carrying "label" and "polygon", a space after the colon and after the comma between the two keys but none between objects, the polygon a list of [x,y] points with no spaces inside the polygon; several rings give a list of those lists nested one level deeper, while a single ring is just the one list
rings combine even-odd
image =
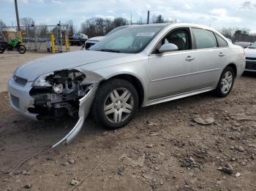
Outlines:
[{"label": "front side door of the silver sedan, beside the side mirror", "polygon": [[[159,47],[165,43],[176,44],[178,50],[159,53]],[[149,55],[148,71],[149,101],[196,89],[194,73],[197,71],[197,58],[195,50],[192,50],[189,28],[176,28],[160,40]]]}]

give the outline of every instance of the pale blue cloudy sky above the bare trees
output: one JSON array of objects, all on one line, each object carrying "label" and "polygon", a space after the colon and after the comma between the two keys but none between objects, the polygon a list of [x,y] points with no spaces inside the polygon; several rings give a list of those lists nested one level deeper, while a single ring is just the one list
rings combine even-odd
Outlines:
[{"label": "pale blue cloudy sky above the bare trees", "polygon": [[[18,0],[20,17],[32,17],[36,24],[55,25],[74,20],[77,28],[91,17],[125,17],[136,23],[162,15],[182,23],[213,28],[249,28],[256,33],[256,0]],[[0,0],[0,20],[16,26],[14,0]]]}]

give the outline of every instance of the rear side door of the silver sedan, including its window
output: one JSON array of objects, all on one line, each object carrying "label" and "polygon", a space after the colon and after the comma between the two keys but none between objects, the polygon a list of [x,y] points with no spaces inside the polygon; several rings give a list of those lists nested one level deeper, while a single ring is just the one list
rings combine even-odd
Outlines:
[{"label": "rear side door of the silver sedan, including its window", "polygon": [[[198,89],[215,87],[219,81],[223,65],[227,62],[227,42],[213,31],[192,28],[197,56],[196,81]],[[224,42],[217,38],[221,38]],[[220,47],[222,43],[222,47]]]}]

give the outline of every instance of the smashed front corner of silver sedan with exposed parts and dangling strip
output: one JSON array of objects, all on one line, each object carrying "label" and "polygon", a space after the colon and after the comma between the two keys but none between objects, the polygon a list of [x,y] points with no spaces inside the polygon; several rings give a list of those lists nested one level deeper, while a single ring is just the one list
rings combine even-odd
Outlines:
[{"label": "smashed front corner of silver sedan with exposed parts and dangling strip", "polygon": [[67,144],[83,127],[83,122],[91,109],[99,81],[87,79],[86,75],[75,69],[54,71],[38,77],[29,94],[34,98],[34,107],[29,112],[37,113],[38,119],[78,117],[74,128],[53,147]]}]

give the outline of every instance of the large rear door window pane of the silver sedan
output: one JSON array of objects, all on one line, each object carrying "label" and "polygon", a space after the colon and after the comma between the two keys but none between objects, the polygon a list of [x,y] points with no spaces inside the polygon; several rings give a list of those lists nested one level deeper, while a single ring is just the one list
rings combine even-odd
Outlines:
[{"label": "large rear door window pane of the silver sedan", "polygon": [[201,28],[192,28],[197,49],[218,47],[214,33]]}]

